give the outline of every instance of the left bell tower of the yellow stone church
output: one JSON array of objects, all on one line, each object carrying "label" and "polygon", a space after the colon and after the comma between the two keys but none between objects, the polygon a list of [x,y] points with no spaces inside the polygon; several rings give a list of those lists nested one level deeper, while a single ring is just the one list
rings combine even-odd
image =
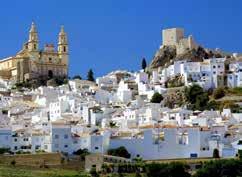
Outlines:
[{"label": "left bell tower of the yellow stone church", "polygon": [[29,51],[38,51],[39,49],[39,40],[38,40],[38,33],[36,30],[35,24],[32,22],[31,28],[29,31],[29,40],[27,44],[27,48]]}]

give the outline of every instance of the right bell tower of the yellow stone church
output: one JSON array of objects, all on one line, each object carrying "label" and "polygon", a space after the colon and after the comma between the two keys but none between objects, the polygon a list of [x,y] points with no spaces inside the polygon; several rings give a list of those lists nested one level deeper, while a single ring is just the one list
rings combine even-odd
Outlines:
[{"label": "right bell tower of the yellow stone church", "polygon": [[64,31],[64,26],[61,26],[61,30],[58,38],[58,54],[63,64],[68,66],[68,42],[67,35]]}]

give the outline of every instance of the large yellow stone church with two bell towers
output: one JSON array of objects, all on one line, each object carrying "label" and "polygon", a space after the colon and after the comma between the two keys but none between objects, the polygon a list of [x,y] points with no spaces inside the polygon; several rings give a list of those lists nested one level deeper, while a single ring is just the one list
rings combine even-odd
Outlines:
[{"label": "large yellow stone church with two bell towers", "polygon": [[30,81],[37,78],[67,77],[69,48],[64,27],[58,36],[57,51],[53,44],[39,49],[36,26],[32,23],[29,39],[15,56],[0,60],[0,78],[14,82]]}]

